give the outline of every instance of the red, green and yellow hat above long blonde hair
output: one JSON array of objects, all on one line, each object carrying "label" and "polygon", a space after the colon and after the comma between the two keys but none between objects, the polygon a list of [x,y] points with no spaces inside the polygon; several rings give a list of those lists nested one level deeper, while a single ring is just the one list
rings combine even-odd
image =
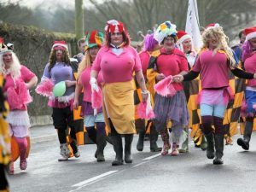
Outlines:
[{"label": "red, green and yellow hat above long blonde hair", "polygon": [[94,30],[88,33],[86,36],[85,50],[94,46],[102,47],[103,40],[104,40],[104,35],[102,32],[98,32],[97,30]]}]

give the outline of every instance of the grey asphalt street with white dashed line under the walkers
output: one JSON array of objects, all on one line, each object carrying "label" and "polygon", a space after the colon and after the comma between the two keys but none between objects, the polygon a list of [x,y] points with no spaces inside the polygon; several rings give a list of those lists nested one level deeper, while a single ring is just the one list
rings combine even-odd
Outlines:
[{"label": "grey asphalt street with white dashed line under the walkers", "polygon": [[[250,151],[245,152],[236,144],[224,147],[224,165],[212,165],[206,152],[190,142],[189,153],[179,156],[161,156],[149,152],[149,142],[144,151],[137,152],[134,137],[133,163],[111,166],[114,159],[110,144],[105,148],[105,162],[94,158],[96,145],[80,146],[81,156],[58,162],[57,140],[32,143],[26,171],[20,171],[15,162],[15,175],[9,176],[10,191],[197,191],[197,192],[249,192],[255,191],[253,181],[256,166],[256,136],[253,134]],[[162,143],[159,137],[159,145]]]}]

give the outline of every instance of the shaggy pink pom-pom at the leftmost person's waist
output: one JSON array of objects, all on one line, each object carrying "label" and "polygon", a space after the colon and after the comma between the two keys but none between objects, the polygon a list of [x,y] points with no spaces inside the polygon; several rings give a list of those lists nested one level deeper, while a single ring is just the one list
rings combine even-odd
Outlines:
[{"label": "shaggy pink pom-pom at the leftmost person's waist", "polygon": [[7,90],[7,101],[11,109],[20,109],[23,105],[32,102],[32,96],[26,88],[24,82],[15,81],[15,87],[9,87]]}]

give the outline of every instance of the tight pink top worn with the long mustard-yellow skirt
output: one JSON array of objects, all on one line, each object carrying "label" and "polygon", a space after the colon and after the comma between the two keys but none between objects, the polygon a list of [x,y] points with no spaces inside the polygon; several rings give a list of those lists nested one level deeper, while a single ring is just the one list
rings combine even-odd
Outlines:
[{"label": "tight pink top worn with the long mustard-yellow skirt", "polygon": [[124,47],[120,55],[104,46],[97,53],[92,69],[96,72],[102,70],[105,83],[114,83],[131,81],[133,72],[141,71],[142,65],[137,51],[131,46]]}]

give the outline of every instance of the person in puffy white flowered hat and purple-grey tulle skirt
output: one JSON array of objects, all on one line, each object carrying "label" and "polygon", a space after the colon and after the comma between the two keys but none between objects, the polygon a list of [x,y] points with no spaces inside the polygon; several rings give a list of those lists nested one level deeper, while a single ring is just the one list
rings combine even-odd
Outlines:
[{"label": "person in puffy white flowered hat and purple-grey tulle skirt", "polygon": [[[177,41],[176,26],[170,21],[162,23],[154,32],[154,38],[163,44],[154,62],[148,68],[154,69],[151,73],[156,73],[156,81],[166,79],[170,75],[185,74],[188,72],[188,61],[183,52],[175,47]],[[183,128],[188,126],[189,112],[186,97],[183,91],[183,84],[174,83],[177,93],[174,96],[154,95],[154,125],[160,132],[164,146],[162,155],[168,154],[171,148],[167,123],[172,121],[172,155],[178,155],[179,138],[183,133]]]}]

